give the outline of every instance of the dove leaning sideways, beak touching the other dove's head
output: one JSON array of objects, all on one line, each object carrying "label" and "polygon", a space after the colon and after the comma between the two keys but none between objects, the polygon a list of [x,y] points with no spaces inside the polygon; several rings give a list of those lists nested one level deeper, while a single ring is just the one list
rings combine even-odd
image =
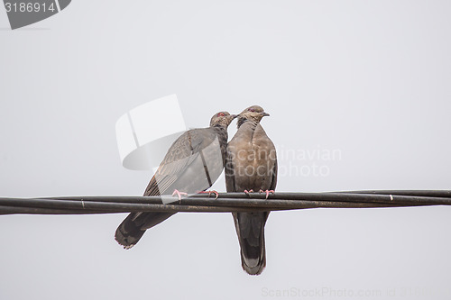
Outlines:
[{"label": "dove leaning sideways, beak touching the other dove's head", "polygon": [[[220,112],[210,127],[183,133],[170,146],[144,195],[171,195],[174,190],[194,194],[212,186],[226,163],[227,127],[235,114]],[[132,248],[144,232],[175,213],[132,213],[119,225],[115,240]]]}]

